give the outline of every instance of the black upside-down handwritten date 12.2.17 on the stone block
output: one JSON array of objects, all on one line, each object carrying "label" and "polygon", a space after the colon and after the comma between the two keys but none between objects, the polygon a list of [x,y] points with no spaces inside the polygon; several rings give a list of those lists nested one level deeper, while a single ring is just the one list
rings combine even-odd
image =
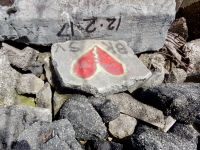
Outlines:
[{"label": "black upside-down handwritten date 12.2.17 on the stone block", "polygon": [[[97,22],[98,18],[97,17],[93,17],[93,18],[88,18],[88,19],[83,19],[84,22],[86,22],[86,27],[85,27],[85,31],[87,33],[92,33],[95,32],[97,30],[97,26],[95,26],[95,23]],[[118,30],[119,26],[121,24],[121,17],[119,19],[116,18],[106,18],[106,22],[107,22],[107,26],[106,29],[107,30]],[[104,24],[100,24],[100,27],[103,27]],[[71,30],[71,35],[70,34],[66,34],[63,33],[65,31],[65,28],[70,28]],[[70,22],[69,23],[65,23],[61,30],[57,33],[57,36],[74,36],[74,23]]]}]

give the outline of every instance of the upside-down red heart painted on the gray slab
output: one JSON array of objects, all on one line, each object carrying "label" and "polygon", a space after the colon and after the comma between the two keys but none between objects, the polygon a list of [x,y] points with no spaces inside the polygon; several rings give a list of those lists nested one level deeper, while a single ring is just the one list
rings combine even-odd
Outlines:
[{"label": "upside-down red heart painted on the gray slab", "polygon": [[80,78],[89,78],[96,72],[97,63],[110,74],[122,75],[124,73],[122,64],[98,46],[83,54],[74,63],[73,72]]}]

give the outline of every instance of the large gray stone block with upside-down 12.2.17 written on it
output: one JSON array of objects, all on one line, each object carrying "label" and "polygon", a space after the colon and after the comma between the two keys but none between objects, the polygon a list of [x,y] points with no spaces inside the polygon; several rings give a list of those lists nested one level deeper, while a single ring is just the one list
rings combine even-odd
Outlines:
[{"label": "large gray stone block with upside-down 12.2.17 written on it", "polygon": [[124,40],[136,53],[159,50],[175,7],[174,0],[15,0],[12,7],[0,6],[0,39],[38,45]]}]

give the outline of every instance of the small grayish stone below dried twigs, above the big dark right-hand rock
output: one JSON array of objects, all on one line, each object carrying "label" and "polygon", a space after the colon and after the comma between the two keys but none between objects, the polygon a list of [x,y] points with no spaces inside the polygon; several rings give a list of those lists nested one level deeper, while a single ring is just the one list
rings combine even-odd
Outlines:
[{"label": "small grayish stone below dried twigs, above the big dark right-hand rock", "polygon": [[165,83],[183,83],[186,80],[187,73],[181,68],[173,68],[173,70],[165,75]]}]

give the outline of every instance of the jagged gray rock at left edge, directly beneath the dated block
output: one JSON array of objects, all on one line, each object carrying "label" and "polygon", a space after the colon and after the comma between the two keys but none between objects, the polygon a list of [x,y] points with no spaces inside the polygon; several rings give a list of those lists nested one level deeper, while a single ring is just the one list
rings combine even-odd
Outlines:
[{"label": "jagged gray rock at left edge, directly beneath the dated block", "polygon": [[33,61],[36,60],[39,54],[37,50],[31,47],[26,47],[23,50],[19,50],[6,43],[2,43],[1,51],[7,55],[10,64],[23,70],[27,70]]}]

